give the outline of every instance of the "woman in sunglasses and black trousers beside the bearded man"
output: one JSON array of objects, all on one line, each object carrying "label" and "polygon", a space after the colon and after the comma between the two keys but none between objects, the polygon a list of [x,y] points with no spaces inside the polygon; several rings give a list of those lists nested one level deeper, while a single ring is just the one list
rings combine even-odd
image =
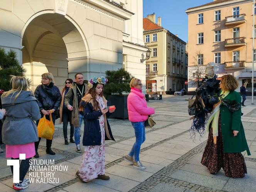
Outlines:
[{"label": "woman in sunglasses and black trousers beside the bearded man", "polygon": [[[70,125],[70,142],[74,143],[75,141],[73,140],[73,136],[74,136],[74,125],[72,125],[71,123],[71,119],[72,119],[72,111],[68,110],[67,107],[64,104],[64,99],[65,96],[71,86],[71,84],[73,83],[72,79],[66,79],[65,81],[65,86],[61,91],[61,95],[62,95],[62,100],[61,100],[61,106],[60,106],[60,118],[59,118],[59,123],[61,124],[61,122],[63,122],[63,135],[64,135],[64,140],[65,140],[65,145],[68,145],[69,142],[67,141],[67,124],[69,122]],[[72,104],[72,99],[69,99],[69,103]]]}]

